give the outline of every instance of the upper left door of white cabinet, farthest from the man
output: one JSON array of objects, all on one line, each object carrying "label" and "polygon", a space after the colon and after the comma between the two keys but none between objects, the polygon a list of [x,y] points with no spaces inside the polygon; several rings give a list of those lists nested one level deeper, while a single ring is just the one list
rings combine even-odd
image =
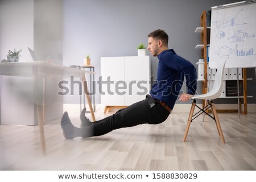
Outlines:
[{"label": "upper left door of white cabinet, farthest from the man", "polygon": [[101,57],[101,76],[102,80],[118,81],[125,80],[125,59],[124,57]]}]

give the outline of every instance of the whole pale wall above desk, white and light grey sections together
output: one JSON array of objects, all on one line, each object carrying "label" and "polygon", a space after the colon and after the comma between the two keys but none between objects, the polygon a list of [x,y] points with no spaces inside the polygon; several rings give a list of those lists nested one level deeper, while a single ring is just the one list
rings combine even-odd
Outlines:
[{"label": "whole pale wall above desk, white and light grey sections together", "polygon": [[38,60],[62,64],[62,0],[1,0],[0,27],[1,60],[15,48],[22,49],[20,62],[32,61],[30,47]]}]

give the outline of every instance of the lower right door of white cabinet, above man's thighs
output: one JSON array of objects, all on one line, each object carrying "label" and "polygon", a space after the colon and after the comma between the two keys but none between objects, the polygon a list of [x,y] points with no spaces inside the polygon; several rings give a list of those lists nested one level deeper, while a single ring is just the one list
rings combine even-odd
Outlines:
[{"label": "lower right door of white cabinet, above man's thighs", "polygon": [[148,81],[126,81],[127,89],[125,94],[125,105],[129,106],[135,102],[142,101],[150,92]]}]

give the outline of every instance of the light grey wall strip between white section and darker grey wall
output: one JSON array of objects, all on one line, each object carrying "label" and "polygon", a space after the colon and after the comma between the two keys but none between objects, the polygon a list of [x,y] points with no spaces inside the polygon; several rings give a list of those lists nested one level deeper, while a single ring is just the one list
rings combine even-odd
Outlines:
[{"label": "light grey wall strip between white section and darker grey wall", "polygon": [[34,51],[39,60],[63,62],[63,1],[34,0]]}]

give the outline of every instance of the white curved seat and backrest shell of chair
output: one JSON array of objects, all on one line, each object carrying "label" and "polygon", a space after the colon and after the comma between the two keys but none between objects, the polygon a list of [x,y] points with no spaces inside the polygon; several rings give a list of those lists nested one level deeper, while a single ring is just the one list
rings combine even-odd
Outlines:
[{"label": "white curved seat and backrest shell of chair", "polygon": [[[227,59],[226,59],[227,60]],[[220,97],[222,92],[222,86],[223,86],[223,77],[224,77],[224,68],[226,64],[226,60],[223,61],[217,68],[217,72],[215,75],[215,81],[213,85],[213,89],[210,90],[210,92],[206,94],[201,95],[195,95],[192,98],[199,98],[199,99],[206,99],[206,100],[213,100],[215,98]]]}]

